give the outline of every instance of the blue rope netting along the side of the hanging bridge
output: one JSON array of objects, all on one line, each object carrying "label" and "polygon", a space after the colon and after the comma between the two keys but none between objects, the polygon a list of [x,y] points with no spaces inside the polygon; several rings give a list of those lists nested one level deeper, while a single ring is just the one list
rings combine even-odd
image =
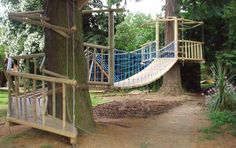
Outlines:
[{"label": "blue rope netting along the side of the hanging bridge", "polygon": [[[114,53],[114,80],[115,82],[127,79],[134,74],[140,72],[146,68],[156,58],[173,58],[175,49],[175,42],[170,43],[166,47],[156,50],[156,42],[149,42],[142,48],[132,52],[126,52],[123,50],[115,49]],[[106,73],[109,71],[108,58],[109,53],[103,54],[103,58],[100,50],[97,50],[96,60],[100,65],[104,65],[103,69]],[[103,60],[102,60],[103,59]],[[103,64],[102,64],[103,62]],[[92,64],[93,65],[93,64]],[[91,67],[93,69],[93,66]],[[96,68],[96,81],[101,80],[101,70]],[[94,81],[94,71],[91,71],[91,81]],[[104,77],[104,81],[108,81]]]}]

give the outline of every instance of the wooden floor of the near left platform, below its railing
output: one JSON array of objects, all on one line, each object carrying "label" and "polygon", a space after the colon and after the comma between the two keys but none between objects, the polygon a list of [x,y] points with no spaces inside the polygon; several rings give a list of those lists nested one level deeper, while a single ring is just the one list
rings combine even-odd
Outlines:
[{"label": "wooden floor of the near left platform, below its railing", "polygon": [[[48,115],[47,113],[44,113],[45,124],[43,123],[42,96],[40,95],[40,91],[37,91],[37,93],[38,95],[36,98],[36,102],[34,102],[32,97],[29,97],[30,95],[28,95],[26,100],[24,100],[24,98],[22,97],[18,97],[18,99],[12,97],[11,112],[8,117],[8,122],[10,124],[21,124],[62,135],[70,138],[71,143],[75,143],[77,137],[77,130],[73,128],[70,123],[66,122],[66,126],[63,128],[62,120]],[[46,98],[46,100],[48,99]],[[15,109],[16,103],[18,103],[18,111],[16,111]],[[34,104],[36,104],[36,112],[34,112]],[[34,118],[34,113],[36,113],[36,118]]]}]

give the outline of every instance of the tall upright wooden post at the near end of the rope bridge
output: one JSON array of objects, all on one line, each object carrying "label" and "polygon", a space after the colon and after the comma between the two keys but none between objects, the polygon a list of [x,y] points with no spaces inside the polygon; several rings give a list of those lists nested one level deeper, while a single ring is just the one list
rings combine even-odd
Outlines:
[{"label": "tall upright wooden post at the near end of the rope bridge", "polygon": [[109,39],[109,85],[110,87],[114,86],[114,12],[111,11],[109,12],[109,17],[108,17],[108,25],[109,25],[109,35],[108,35],[108,39]]}]

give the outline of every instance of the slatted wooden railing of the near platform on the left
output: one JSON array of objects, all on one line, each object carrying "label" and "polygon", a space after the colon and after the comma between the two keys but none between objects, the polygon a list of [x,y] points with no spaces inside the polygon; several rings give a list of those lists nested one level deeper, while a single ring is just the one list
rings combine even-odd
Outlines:
[{"label": "slatted wooden railing of the near platform on the left", "polygon": [[[6,71],[9,77],[8,121],[75,139],[77,131],[67,123],[67,91],[77,87],[77,82],[66,78],[45,76],[41,73],[38,65],[41,61],[39,58],[43,56],[44,54],[34,54],[12,57],[13,60],[18,61],[18,70]],[[60,109],[62,120],[56,117],[59,111],[56,108],[57,97],[62,99]],[[52,115],[47,114],[48,110],[52,111]]]}]

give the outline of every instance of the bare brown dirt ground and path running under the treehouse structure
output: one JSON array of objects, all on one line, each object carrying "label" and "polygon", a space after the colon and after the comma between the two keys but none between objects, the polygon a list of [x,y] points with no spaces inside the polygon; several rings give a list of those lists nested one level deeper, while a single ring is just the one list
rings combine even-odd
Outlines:
[{"label": "bare brown dirt ground and path running under the treehouse structure", "polygon": [[[214,140],[202,138],[199,130],[207,127],[210,122],[202,107],[203,98],[198,95],[183,95],[177,97],[158,96],[156,94],[130,94],[126,96],[110,96],[107,100],[115,100],[115,105],[103,105],[101,108],[115,108],[114,114],[119,114],[117,108],[125,111],[141,112],[139,116],[124,116],[114,118],[110,114],[96,116],[97,130],[92,134],[78,137],[77,147],[81,148],[235,148],[236,138],[229,134],[218,136]],[[122,101],[123,103],[119,103]],[[134,102],[127,105],[124,102]],[[139,108],[140,102],[151,101],[149,109]],[[158,103],[156,103],[158,102]],[[176,103],[178,102],[178,103]],[[143,103],[145,104],[145,103]],[[141,106],[143,105],[141,103]],[[173,105],[174,104],[174,105]],[[148,111],[159,110],[160,106],[168,110],[146,116]],[[117,108],[114,106],[118,106]],[[131,107],[130,107],[131,106]],[[159,107],[158,107],[159,106]],[[142,113],[145,113],[145,116]],[[152,112],[153,113],[153,112]],[[136,114],[132,114],[136,115]],[[109,118],[108,118],[109,117]],[[128,118],[123,118],[128,117]],[[2,144],[0,147],[71,147],[68,139],[54,134],[42,132],[23,126],[7,129],[0,125],[0,140],[7,135],[21,134],[20,138]],[[22,134],[23,133],[23,134]]]}]

